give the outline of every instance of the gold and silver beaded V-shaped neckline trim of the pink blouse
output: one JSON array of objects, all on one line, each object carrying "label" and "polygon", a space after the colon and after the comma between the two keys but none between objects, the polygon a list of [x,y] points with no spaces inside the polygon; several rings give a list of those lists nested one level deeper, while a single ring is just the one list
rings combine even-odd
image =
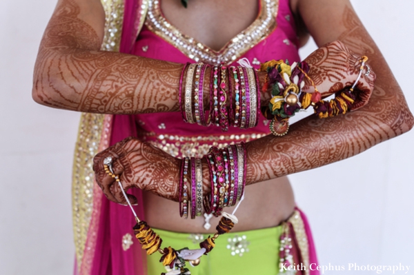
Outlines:
[{"label": "gold and silver beaded V-shaped neckline trim of the pink blouse", "polygon": [[218,52],[203,43],[188,37],[172,26],[161,12],[158,0],[148,1],[146,26],[168,43],[172,44],[195,62],[230,64],[254,45],[265,39],[277,27],[276,17],[279,0],[260,0],[259,14],[245,30],[233,37]]}]

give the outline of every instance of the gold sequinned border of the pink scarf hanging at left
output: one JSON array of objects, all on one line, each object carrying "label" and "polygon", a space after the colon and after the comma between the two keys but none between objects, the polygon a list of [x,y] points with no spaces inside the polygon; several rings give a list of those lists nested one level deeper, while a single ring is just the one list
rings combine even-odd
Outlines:
[{"label": "gold sequinned border of the pink scarf hanging at left", "polygon": [[[101,50],[119,51],[124,1],[101,0],[101,4],[105,10]],[[79,274],[90,273],[95,253],[96,234],[88,238],[89,230],[97,230],[98,227],[98,221],[92,223],[93,210],[99,207],[94,205],[95,182],[92,165],[93,157],[99,149],[103,150],[109,145],[111,119],[111,115],[82,113],[79,123],[72,175],[72,220]]]}]

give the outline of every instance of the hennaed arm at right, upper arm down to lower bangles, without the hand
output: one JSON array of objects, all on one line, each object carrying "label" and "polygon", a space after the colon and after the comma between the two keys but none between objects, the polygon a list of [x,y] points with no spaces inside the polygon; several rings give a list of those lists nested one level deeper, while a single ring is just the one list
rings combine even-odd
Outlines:
[{"label": "hennaed arm at right, upper arm down to lower bangles, without the hand", "polygon": [[[413,115],[404,94],[351,3],[348,0],[299,0],[298,4],[317,45],[337,39],[353,52],[370,57],[377,75],[375,88],[368,105],[355,112],[331,119],[311,116],[292,125],[286,136],[266,136],[248,143],[248,184],[355,156],[413,128]],[[344,171],[344,174],[351,172]]]}]

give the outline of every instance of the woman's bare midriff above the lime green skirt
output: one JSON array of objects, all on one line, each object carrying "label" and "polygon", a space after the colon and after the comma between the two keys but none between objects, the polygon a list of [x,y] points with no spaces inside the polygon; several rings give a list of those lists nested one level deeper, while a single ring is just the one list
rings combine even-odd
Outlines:
[{"label": "woman's bare midriff above the lime green skirt", "polygon": [[[232,232],[275,227],[292,214],[295,207],[293,190],[286,176],[246,186],[245,198],[236,216],[239,223]],[[179,205],[149,192],[144,193],[145,218],[148,224],[161,230],[186,233],[214,233],[219,218],[210,219],[210,230],[205,230],[204,216],[179,218]],[[228,213],[234,207],[225,208]]]}]

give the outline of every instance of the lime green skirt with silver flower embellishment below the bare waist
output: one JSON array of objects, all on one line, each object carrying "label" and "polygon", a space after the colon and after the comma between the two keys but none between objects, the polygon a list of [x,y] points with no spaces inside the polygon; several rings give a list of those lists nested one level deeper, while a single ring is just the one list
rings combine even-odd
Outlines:
[{"label": "lime green skirt with silver flower embellishment below the bare waist", "polygon": [[[183,247],[198,249],[198,243],[208,237],[207,234],[204,234],[202,240],[193,243],[195,235],[191,238],[188,233],[168,232],[158,229],[154,229],[154,231],[163,240],[161,247],[170,246],[175,249]],[[197,267],[192,267],[189,263],[186,264],[186,267],[190,269],[192,275],[279,274],[279,240],[281,234],[282,226],[277,226],[221,235],[215,241],[215,248],[207,256],[201,257],[201,263]],[[245,236],[245,239],[242,238],[243,236]],[[239,242],[239,238],[242,238],[242,242]],[[248,243],[246,245],[248,252],[244,252],[242,256],[239,256],[239,254],[232,256],[231,244],[237,242],[242,243],[242,245]],[[161,272],[166,272],[164,266],[159,263],[160,257],[159,253],[147,256],[148,275],[159,275]]]}]

